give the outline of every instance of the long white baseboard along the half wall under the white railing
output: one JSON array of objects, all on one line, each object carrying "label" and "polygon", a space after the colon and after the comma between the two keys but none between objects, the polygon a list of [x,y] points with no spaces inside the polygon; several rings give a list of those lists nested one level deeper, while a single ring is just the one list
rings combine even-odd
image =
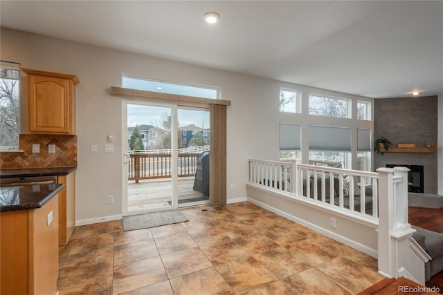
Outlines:
[{"label": "long white baseboard along the half wall under the white railing", "polygon": [[296,216],[293,216],[293,215],[291,215],[289,213],[286,213],[286,212],[284,212],[284,211],[282,211],[280,209],[271,207],[268,204],[264,204],[263,202],[254,200],[252,198],[248,198],[248,202],[256,204],[259,207],[262,207],[262,208],[264,208],[266,210],[269,210],[269,211],[271,211],[271,212],[273,212],[275,214],[278,214],[278,215],[280,215],[280,216],[282,216],[284,218],[292,220],[293,222],[296,222],[299,225],[307,227],[308,229],[312,229],[313,231],[316,231],[319,234],[323,234],[323,236],[327,236],[328,238],[332,238],[333,240],[336,240],[337,242],[341,242],[341,243],[343,243],[343,244],[345,244],[345,245],[347,245],[347,246],[349,246],[349,247],[351,247],[353,249],[356,249],[358,251],[361,251],[364,254],[367,254],[367,255],[372,256],[374,258],[378,257],[376,249],[372,249],[370,247],[362,245],[359,242],[354,242],[353,240],[350,240],[349,238],[346,238],[344,236],[338,235],[338,234],[336,234],[336,233],[334,233],[332,231],[324,229],[323,227],[319,227],[318,225],[314,225],[313,223],[307,222],[306,220],[302,220],[302,219],[300,219],[300,218],[298,218]]}]

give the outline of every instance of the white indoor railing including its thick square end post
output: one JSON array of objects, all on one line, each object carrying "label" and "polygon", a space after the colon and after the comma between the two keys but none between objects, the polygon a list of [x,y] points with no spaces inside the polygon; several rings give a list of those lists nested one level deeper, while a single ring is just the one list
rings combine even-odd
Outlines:
[{"label": "white indoor railing including its thick square end post", "polygon": [[280,195],[376,225],[379,273],[406,276],[424,285],[429,256],[411,238],[415,229],[408,223],[409,169],[379,168],[376,173],[300,164],[300,160],[248,162],[248,185],[272,192],[269,200]]}]

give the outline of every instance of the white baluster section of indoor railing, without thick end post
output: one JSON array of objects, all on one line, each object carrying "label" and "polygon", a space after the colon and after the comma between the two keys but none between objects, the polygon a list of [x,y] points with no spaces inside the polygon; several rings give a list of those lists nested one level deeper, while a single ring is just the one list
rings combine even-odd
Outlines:
[{"label": "white baluster section of indoor railing, without thick end post", "polygon": [[378,218],[378,174],[374,172],[251,159],[249,182],[293,198]]}]

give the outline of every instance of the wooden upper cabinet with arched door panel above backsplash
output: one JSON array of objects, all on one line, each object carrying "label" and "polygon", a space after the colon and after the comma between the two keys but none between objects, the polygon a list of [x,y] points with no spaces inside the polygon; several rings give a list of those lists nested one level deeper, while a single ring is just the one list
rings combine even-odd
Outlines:
[{"label": "wooden upper cabinet with arched door panel above backsplash", "polygon": [[75,75],[21,68],[27,77],[28,133],[75,134]]}]

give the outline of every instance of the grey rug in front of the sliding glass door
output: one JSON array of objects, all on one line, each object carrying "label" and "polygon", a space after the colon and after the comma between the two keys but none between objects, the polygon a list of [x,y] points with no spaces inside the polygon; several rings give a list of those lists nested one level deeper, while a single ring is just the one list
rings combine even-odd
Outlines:
[{"label": "grey rug in front of the sliding glass door", "polygon": [[189,219],[179,210],[159,211],[132,216],[123,216],[123,230],[134,231],[135,229],[149,229],[161,225],[186,222]]}]

